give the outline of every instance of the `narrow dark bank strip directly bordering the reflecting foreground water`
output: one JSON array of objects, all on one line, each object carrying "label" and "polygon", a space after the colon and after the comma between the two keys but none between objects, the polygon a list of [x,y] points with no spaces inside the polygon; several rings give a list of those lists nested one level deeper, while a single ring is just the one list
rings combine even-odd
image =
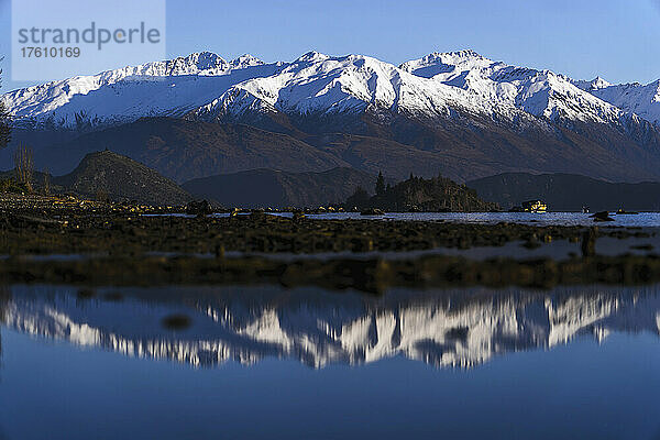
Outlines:
[{"label": "narrow dark bank strip directly bordering the reflecting foreground water", "polygon": [[98,257],[80,261],[9,258],[0,266],[7,284],[84,286],[258,285],[318,286],[384,293],[393,287],[551,288],[559,285],[642,285],[660,282],[660,257],[594,256],[556,262],[550,258],[471,261],[455,256],[418,258],[232,258]]}]

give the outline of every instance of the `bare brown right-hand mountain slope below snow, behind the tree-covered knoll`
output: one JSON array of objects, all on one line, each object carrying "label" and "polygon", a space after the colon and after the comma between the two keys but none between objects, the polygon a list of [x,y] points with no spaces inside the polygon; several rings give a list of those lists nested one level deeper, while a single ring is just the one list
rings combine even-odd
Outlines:
[{"label": "bare brown right-hand mountain slope below snow, behind the tree-covered knoll", "polygon": [[354,167],[399,178],[410,172],[426,177],[441,173],[457,182],[503,172],[579,173],[625,182],[660,178],[660,132],[646,121],[616,129],[531,116],[498,121],[458,111],[435,119],[365,111],[243,114],[242,120],[290,134]]}]

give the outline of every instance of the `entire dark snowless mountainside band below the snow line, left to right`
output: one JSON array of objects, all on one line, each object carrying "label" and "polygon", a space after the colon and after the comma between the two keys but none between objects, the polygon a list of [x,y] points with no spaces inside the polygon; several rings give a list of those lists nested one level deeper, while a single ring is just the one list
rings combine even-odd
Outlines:
[{"label": "entire dark snowless mountainside band below the snow line, left to right", "polygon": [[[512,123],[460,113],[431,121],[393,112],[350,118],[246,114],[243,120],[262,128],[143,118],[57,144],[48,145],[42,135],[32,146],[37,168],[54,174],[70,172],[85,154],[109,147],[179,183],[257,168],[300,173],[334,167],[383,170],[399,179],[410,173],[440,173],[455,182],[508,172],[660,179],[660,134],[646,121],[630,120],[629,127],[617,129],[541,119]],[[0,152],[1,167],[12,167],[11,154],[9,148]]]}]

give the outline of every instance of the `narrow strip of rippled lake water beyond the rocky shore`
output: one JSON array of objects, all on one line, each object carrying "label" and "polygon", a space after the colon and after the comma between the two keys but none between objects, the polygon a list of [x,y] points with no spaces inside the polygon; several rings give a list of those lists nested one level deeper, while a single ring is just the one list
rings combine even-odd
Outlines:
[{"label": "narrow strip of rippled lake water beyond the rocky shore", "polygon": [[[229,213],[217,213],[217,217],[229,217]],[[288,212],[274,216],[290,217]],[[640,212],[638,215],[612,213],[613,222],[595,223],[590,213],[581,212],[392,212],[385,216],[361,216],[359,212],[308,215],[310,219],[381,219],[381,220],[443,220],[458,223],[495,224],[501,222],[525,223],[537,226],[613,226],[613,227],[660,227],[660,212]]]}]

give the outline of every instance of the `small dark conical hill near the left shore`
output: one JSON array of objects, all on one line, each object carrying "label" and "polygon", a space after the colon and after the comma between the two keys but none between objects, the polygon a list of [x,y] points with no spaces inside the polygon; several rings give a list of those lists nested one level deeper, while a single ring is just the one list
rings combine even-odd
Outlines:
[{"label": "small dark conical hill near the left shore", "polygon": [[53,183],[85,197],[102,195],[114,201],[177,206],[193,199],[168,178],[110,151],[86,155],[74,172],[54,177]]}]

